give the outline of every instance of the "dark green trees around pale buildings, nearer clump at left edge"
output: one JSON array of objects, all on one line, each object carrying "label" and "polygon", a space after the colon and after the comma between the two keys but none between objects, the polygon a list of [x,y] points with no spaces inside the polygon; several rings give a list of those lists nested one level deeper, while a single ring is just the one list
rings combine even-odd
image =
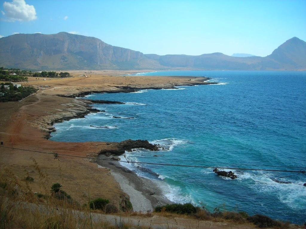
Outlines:
[{"label": "dark green trees around pale buildings, nearer clump at left edge", "polygon": [[[4,89],[4,85],[9,85],[9,90]],[[7,101],[18,101],[22,100],[25,97],[31,95],[32,93],[37,92],[37,89],[34,87],[19,87],[17,88],[12,83],[1,83],[0,91],[5,93],[1,99],[5,102]]]}]

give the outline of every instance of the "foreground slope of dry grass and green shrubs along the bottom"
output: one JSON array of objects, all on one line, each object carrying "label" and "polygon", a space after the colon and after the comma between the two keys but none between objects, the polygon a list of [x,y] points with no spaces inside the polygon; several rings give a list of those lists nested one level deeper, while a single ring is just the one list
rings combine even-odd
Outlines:
[{"label": "foreground slope of dry grass and green shrubs along the bottom", "polygon": [[[89,207],[92,205],[90,192],[88,204],[81,206],[73,200],[73,197],[60,190],[60,184],[57,183],[47,187],[46,184],[50,184],[48,182],[49,175],[39,167],[34,158],[32,158],[32,161],[32,168],[39,174],[38,180],[34,180],[27,171],[24,171],[24,178],[20,180],[5,166],[1,167],[1,229],[181,228],[182,222],[179,222],[179,218],[189,222],[189,226],[184,225],[183,228],[254,228],[254,224],[256,224],[259,227],[284,229],[288,228],[289,225],[289,223],[271,220],[267,216],[256,215],[250,218],[243,212],[222,212],[218,208],[215,208],[214,212],[210,213],[204,208],[194,207],[191,204],[165,205],[157,207],[154,213],[143,214],[132,210],[122,212],[119,209],[117,214],[105,215],[103,213],[105,213],[106,208],[99,210]],[[41,193],[31,191],[32,182],[39,183],[44,191]],[[166,223],[156,225],[152,221],[154,217],[165,218]],[[167,219],[169,222],[174,220],[175,224],[170,225]],[[207,221],[209,226],[201,227],[199,222],[203,220]],[[212,223],[219,225],[219,227],[212,226]],[[235,227],[223,227],[231,223],[234,223]]]}]

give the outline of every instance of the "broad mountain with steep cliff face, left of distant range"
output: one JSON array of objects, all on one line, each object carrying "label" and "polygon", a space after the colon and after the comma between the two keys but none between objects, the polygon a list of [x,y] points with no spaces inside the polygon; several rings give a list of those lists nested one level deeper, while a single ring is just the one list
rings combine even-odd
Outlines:
[{"label": "broad mountain with steep cliff face, left of distant range", "polygon": [[[27,68],[114,68],[118,62],[139,59],[144,54],[106,44],[98,38],[58,34],[16,34],[0,40],[1,60]],[[21,65],[21,66],[20,66]]]}]

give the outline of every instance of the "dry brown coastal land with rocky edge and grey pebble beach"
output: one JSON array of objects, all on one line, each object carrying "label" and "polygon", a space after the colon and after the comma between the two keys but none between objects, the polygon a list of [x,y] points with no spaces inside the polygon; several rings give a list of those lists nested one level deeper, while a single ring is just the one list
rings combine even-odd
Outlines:
[{"label": "dry brown coastal land with rocky edge and grey pebble beach", "polygon": [[[62,189],[81,205],[88,202],[88,194],[91,199],[109,199],[118,206],[126,205],[126,200],[130,199],[134,211],[141,212],[169,203],[154,182],[137,177],[117,162],[96,159],[100,152],[109,152],[108,156],[122,154],[125,148],[119,149],[120,144],[104,142],[103,139],[99,142],[48,140],[50,133],[56,131],[52,126],[55,122],[81,118],[98,111],[89,106],[93,101],[76,97],[90,93],[133,92],[212,83],[205,82],[203,77],[127,75],[131,73],[134,71],[70,71],[73,75],[70,78],[29,78],[28,82],[22,82],[22,86],[33,85],[39,90],[19,103],[0,104],[1,167],[8,168],[24,181],[27,176],[33,177],[37,182],[31,183],[32,191],[43,193],[45,190],[38,182],[39,174],[34,169],[36,162],[46,174],[45,185],[48,188],[54,183],[62,184]],[[48,87],[42,89],[40,85]],[[80,134],[75,133],[76,141]],[[55,157],[55,154],[58,156]]]}]

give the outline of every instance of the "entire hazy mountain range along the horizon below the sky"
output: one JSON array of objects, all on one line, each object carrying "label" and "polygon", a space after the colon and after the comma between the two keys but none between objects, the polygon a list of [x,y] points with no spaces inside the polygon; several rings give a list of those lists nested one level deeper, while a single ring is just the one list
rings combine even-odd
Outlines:
[{"label": "entire hazy mountain range along the horizon below the sky", "polygon": [[293,37],[266,57],[143,54],[98,38],[58,34],[15,34],[0,38],[0,66],[32,70],[306,70],[306,42]]}]

